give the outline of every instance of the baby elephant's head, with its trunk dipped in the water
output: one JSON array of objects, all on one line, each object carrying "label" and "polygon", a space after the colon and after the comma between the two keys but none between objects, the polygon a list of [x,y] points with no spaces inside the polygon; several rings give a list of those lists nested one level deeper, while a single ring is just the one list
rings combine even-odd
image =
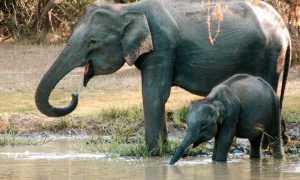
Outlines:
[{"label": "baby elephant's head, with its trunk dipped in the water", "polygon": [[193,102],[186,117],[187,134],[169,164],[175,164],[189,145],[193,144],[195,148],[200,143],[212,139],[217,133],[218,124],[222,124],[224,120],[224,114],[225,107],[220,101]]}]

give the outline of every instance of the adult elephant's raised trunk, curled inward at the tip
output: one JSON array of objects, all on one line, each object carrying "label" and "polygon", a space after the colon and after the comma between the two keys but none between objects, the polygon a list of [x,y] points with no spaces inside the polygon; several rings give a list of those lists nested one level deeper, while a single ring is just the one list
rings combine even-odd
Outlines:
[{"label": "adult elephant's raised trunk, curled inward at the tip", "polygon": [[62,107],[53,107],[49,103],[49,97],[57,83],[74,68],[81,66],[75,63],[78,57],[73,53],[68,52],[68,47],[64,49],[61,55],[57,58],[54,64],[50,67],[47,73],[40,81],[36,93],[35,103],[37,108],[43,114],[50,117],[60,117],[71,113],[78,104],[78,93],[72,94],[72,101]]}]

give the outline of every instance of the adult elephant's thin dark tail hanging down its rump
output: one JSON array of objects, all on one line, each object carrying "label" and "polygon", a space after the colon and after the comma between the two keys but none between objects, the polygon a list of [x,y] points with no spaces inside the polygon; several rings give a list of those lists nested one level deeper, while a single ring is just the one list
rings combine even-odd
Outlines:
[{"label": "adult elephant's thin dark tail hanging down its rump", "polygon": [[280,110],[282,109],[285,86],[286,86],[286,82],[287,82],[287,77],[288,77],[288,73],[289,73],[291,60],[292,60],[292,47],[291,47],[291,43],[289,43],[287,50],[286,50],[286,56],[285,56],[284,67],[283,67],[281,93],[280,93],[280,100],[279,100]]}]

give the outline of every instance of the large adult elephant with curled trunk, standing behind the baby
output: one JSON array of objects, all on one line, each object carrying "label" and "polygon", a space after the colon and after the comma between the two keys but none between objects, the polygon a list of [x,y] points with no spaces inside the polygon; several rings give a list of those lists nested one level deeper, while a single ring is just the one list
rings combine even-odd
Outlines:
[{"label": "large adult elephant with curled trunk, standing behind the baby", "polygon": [[217,9],[224,18],[212,44],[209,34],[214,37],[219,24],[213,20],[215,4],[173,4],[177,2],[169,1],[168,7],[157,0],[90,7],[38,85],[38,109],[58,117],[76,108],[76,93],[64,107],[49,103],[51,91],[74,68],[85,67],[87,85],[93,76],[113,73],[125,62],[141,71],[145,140],[151,150],[159,138],[167,139],[164,112],[172,86],[205,96],[233,74],[247,73],[262,77],[276,91],[284,69],[282,102],[291,44],[283,20],[270,5],[223,1]]}]

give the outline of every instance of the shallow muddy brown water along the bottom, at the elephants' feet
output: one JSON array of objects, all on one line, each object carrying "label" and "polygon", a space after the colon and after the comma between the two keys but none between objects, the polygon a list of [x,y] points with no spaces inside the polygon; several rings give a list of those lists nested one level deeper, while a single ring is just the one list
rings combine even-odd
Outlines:
[{"label": "shallow muddy brown water along the bottom, at the elephants' feet", "polygon": [[111,158],[89,153],[82,138],[54,138],[40,146],[0,148],[0,179],[300,179],[299,161],[232,158],[214,163],[210,157]]}]

